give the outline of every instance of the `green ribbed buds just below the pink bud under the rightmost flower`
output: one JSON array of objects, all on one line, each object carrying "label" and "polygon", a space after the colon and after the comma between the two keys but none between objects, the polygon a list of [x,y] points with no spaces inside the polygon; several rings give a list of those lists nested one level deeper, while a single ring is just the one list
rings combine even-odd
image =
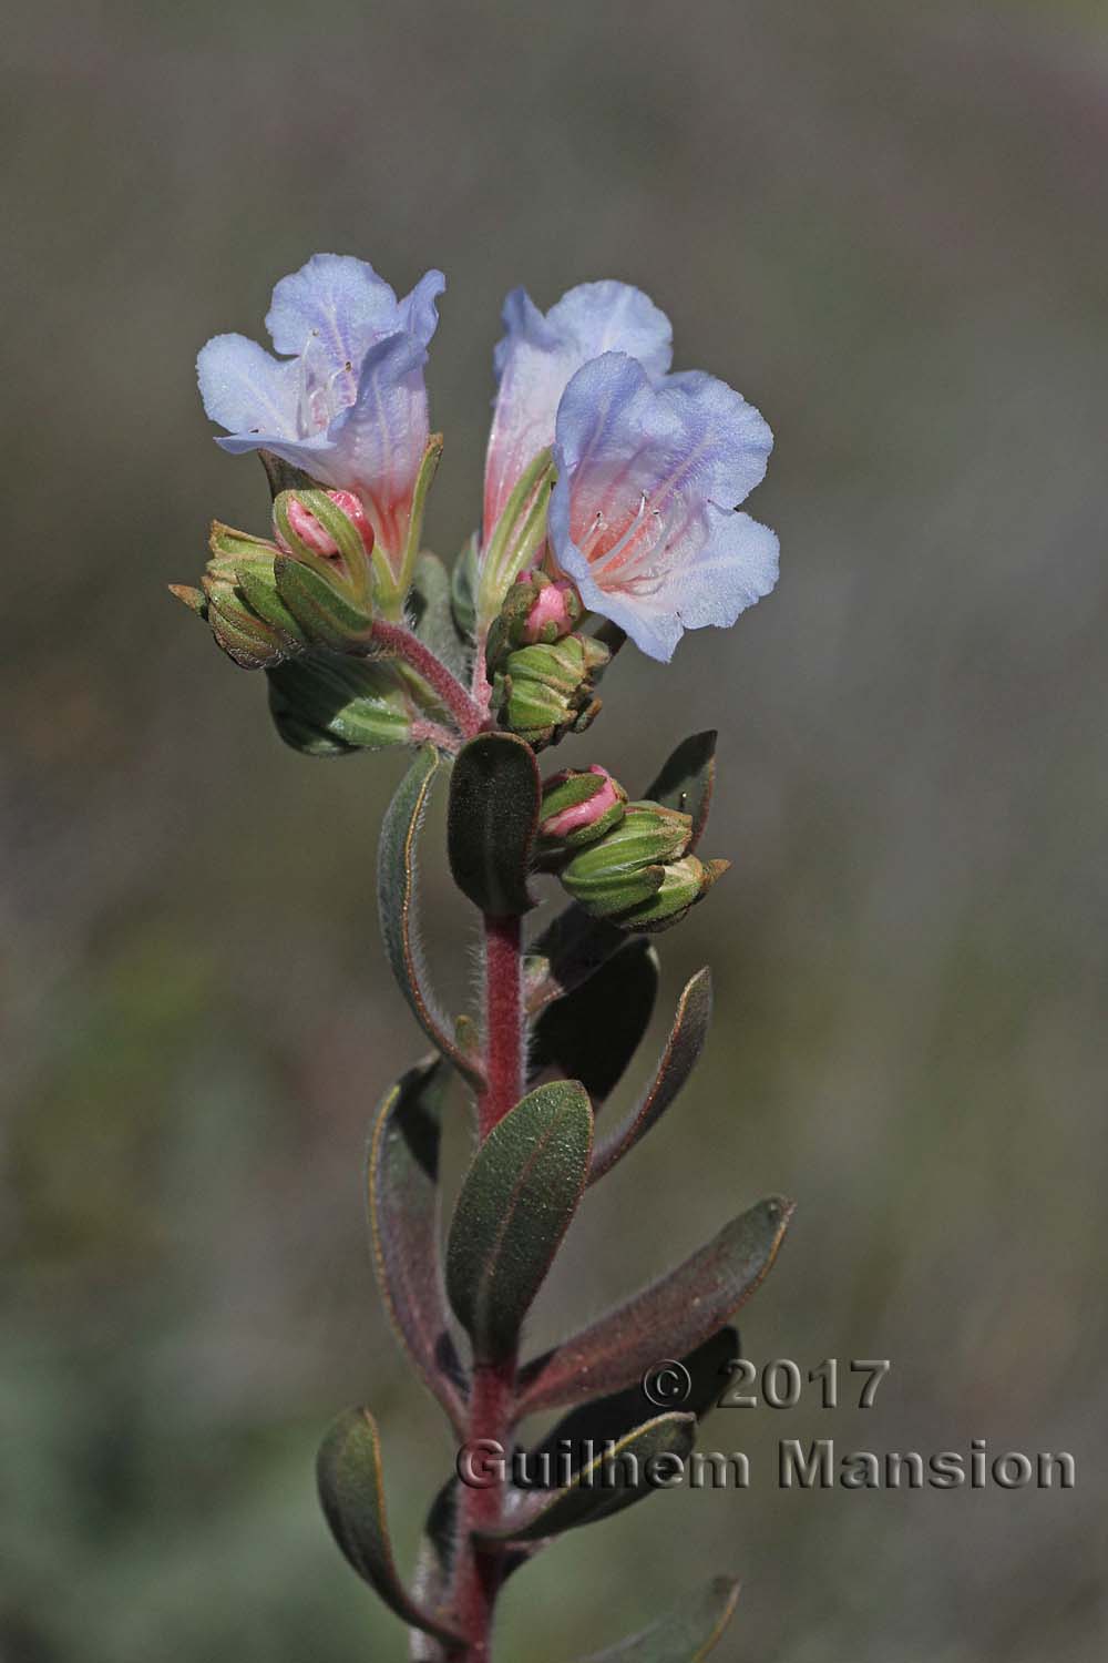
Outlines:
[{"label": "green ribbed buds just below the pink bud under the rightmost flower", "polygon": [[493,677],[500,725],[542,750],[565,733],[583,733],[600,712],[593,675],[611,654],[586,635],[518,647]]}]

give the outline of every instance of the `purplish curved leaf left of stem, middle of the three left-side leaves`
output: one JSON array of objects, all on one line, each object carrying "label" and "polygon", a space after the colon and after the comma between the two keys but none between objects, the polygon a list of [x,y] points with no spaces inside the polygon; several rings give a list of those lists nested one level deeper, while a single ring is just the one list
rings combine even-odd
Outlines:
[{"label": "purplish curved leaf left of stem, middle of the three left-side leaves", "polygon": [[392,1319],[424,1384],[458,1435],[467,1382],[450,1335],[439,1262],[439,1142],[447,1064],[410,1068],[380,1104],[369,1142],[365,1187],[374,1269]]}]

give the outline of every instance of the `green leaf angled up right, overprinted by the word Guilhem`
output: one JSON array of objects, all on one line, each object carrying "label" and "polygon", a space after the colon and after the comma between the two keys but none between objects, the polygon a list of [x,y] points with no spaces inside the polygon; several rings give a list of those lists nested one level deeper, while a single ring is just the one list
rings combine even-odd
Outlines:
[{"label": "green leaf angled up right, overprinted by the word Guilhem", "polygon": [[673,1477],[674,1467],[664,1458],[676,1457],[684,1465],[694,1438],[694,1415],[656,1415],[586,1462],[563,1490],[517,1490],[503,1525],[478,1535],[487,1542],[542,1542],[610,1518],[661,1488],[651,1473]]}]

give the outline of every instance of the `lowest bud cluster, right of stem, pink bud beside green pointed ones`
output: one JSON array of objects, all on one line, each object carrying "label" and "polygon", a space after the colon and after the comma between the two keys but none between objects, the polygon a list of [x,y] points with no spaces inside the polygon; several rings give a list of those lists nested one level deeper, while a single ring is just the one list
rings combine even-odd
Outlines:
[{"label": "lowest bud cluster, right of stem, pink bud beside green pointed ones", "polygon": [[663,803],[630,803],[605,768],[556,773],[543,787],[538,848],[578,906],[623,930],[668,930],[729,861],[691,853],[693,820]]}]

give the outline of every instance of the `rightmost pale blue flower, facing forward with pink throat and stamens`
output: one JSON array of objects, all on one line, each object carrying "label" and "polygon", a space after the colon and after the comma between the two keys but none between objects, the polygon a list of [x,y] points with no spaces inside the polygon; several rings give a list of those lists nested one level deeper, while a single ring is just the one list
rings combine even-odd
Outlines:
[{"label": "rightmost pale blue flower, facing forward with pink throat and stamens", "polygon": [[714,376],[650,374],[605,353],[558,406],[558,567],[590,610],[668,662],[686,629],[734,624],[777,580],[777,537],[734,512],[771,449],[766,421]]}]

